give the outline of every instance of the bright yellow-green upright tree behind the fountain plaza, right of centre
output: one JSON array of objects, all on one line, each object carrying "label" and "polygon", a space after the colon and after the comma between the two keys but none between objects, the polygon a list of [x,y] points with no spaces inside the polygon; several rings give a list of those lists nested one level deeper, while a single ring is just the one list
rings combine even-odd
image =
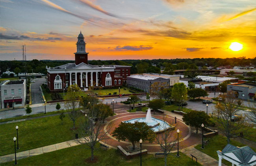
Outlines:
[{"label": "bright yellow-green upright tree behind the fountain plaza, right of centre", "polygon": [[173,85],[172,98],[179,104],[180,110],[180,104],[187,99],[187,88],[184,83],[175,83]]}]

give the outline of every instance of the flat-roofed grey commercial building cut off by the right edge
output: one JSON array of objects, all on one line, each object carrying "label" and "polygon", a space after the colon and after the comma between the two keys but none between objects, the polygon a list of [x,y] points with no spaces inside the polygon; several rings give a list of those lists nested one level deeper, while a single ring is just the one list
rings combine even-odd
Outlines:
[{"label": "flat-roofed grey commercial building cut off by the right edge", "polygon": [[234,83],[227,85],[227,91],[234,92],[236,98],[254,101],[256,85],[250,83]]}]

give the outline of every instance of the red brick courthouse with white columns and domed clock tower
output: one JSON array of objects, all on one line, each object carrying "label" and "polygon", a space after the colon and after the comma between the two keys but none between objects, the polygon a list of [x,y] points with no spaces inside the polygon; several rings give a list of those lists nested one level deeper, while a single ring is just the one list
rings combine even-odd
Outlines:
[{"label": "red brick courthouse with white columns and domed clock tower", "polygon": [[[101,87],[119,87],[126,83],[130,76],[131,66],[120,65],[90,65],[88,53],[85,52],[85,41],[80,32],[76,42],[75,63],[48,67],[47,85],[51,92],[66,89],[69,85],[77,84],[81,89],[88,88],[94,83]],[[82,77],[81,77],[82,76]]]}]

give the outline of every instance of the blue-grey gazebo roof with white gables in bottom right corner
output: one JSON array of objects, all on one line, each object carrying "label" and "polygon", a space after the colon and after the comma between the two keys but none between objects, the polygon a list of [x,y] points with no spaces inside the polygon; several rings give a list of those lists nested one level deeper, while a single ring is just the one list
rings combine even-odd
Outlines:
[{"label": "blue-grey gazebo roof with white gables in bottom right corner", "polygon": [[256,162],[256,153],[249,146],[239,148],[227,144],[221,153],[222,155],[241,163],[239,165],[249,166]]}]

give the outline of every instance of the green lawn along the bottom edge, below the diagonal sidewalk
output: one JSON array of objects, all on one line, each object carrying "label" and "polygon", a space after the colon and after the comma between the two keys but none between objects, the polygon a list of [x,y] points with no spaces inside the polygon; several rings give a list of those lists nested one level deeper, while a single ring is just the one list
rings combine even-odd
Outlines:
[{"label": "green lawn along the bottom edge, below the diagonal sidewalk", "polygon": [[[29,157],[26,159],[17,160],[21,166],[138,166],[140,164],[140,157],[135,157],[130,160],[126,160],[119,151],[115,149],[105,149],[95,150],[95,156],[98,157],[98,162],[87,163],[85,159],[91,156],[91,151],[89,149],[80,149],[80,146],[61,149],[58,151],[53,151],[50,153],[44,153],[42,155],[37,155]],[[180,153],[180,157],[176,157],[175,154],[170,154],[167,157],[167,164],[170,166],[197,166],[201,165],[192,161],[191,158]],[[14,161],[6,162],[1,164],[2,166],[13,165]],[[164,158],[154,158],[153,155],[143,155],[142,165],[147,166],[163,166]]]}]

